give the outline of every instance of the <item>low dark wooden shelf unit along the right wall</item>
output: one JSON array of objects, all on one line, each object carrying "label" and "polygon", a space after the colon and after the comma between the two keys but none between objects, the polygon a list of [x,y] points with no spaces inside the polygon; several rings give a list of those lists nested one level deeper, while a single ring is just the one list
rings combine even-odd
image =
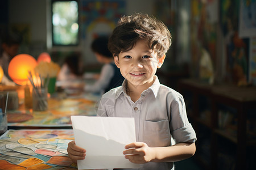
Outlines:
[{"label": "low dark wooden shelf unit along the right wall", "polygon": [[[206,166],[207,169],[217,169],[223,164],[218,159],[218,155],[221,154],[218,150],[218,146],[222,145],[221,138],[226,139],[223,140],[228,142],[226,145],[232,145],[234,152],[231,156],[236,162],[236,169],[243,169],[246,162],[252,161],[250,155],[247,155],[246,148],[256,148],[256,121],[250,120],[251,115],[256,119],[256,87],[211,85],[196,79],[182,79],[179,81],[178,91],[188,100],[189,111],[192,111],[189,112],[189,119],[198,134],[200,145],[201,135],[204,135],[204,130],[208,131],[210,162]],[[220,111],[230,114],[220,114]],[[195,156],[205,165],[204,153],[198,150]]]}]

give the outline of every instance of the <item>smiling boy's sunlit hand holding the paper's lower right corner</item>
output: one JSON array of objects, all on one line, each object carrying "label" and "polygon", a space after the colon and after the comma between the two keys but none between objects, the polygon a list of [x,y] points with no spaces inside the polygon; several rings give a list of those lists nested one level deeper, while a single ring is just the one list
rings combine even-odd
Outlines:
[{"label": "smiling boy's sunlit hand holding the paper's lower right corner", "polygon": [[134,142],[125,146],[127,150],[123,151],[126,159],[132,163],[144,164],[155,158],[155,152],[146,143]]}]

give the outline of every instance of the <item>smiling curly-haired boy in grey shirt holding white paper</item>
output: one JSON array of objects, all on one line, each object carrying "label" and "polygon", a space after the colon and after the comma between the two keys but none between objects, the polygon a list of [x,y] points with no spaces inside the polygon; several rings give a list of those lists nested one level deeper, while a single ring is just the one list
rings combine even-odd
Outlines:
[{"label": "smiling curly-haired boy in grey shirt holding white paper", "polygon": [[[164,62],[171,34],[148,15],[124,16],[109,40],[109,49],[125,80],[102,96],[98,116],[134,117],[138,142],[123,154],[139,169],[174,169],[174,162],[195,154],[196,134],[187,119],[183,96],[159,83],[156,69]],[[176,144],[172,145],[171,137]],[[86,150],[68,145],[69,157],[85,158]]]}]

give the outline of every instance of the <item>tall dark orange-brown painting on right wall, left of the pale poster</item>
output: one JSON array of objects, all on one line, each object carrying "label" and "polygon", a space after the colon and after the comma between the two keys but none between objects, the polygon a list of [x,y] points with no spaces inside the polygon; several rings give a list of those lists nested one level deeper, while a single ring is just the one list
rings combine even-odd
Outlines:
[{"label": "tall dark orange-brown painting on right wall, left of the pale poster", "polygon": [[225,81],[246,84],[249,75],[249,39],[238,36],[240,1],[224,0],[220,2],[220,19],[224,33]]}]

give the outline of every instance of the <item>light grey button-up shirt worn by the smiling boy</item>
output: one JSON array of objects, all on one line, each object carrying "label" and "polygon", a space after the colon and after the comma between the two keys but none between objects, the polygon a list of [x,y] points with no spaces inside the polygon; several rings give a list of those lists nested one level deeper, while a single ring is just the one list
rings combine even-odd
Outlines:
[{"label": "light grey button-up shirt worn by the smiling boy", "polygon": [[[176,143],[195,142],[196,133],[189,124],[183,96],[159,83],[143,91],[135,101],[126,94],[127,80],[121,87],[106,92],[97,109],[98,116],[134,117],[136,139],[149,147],[171,146]],[[174,169],[174,163],[146,163],[139,169]]]}]

